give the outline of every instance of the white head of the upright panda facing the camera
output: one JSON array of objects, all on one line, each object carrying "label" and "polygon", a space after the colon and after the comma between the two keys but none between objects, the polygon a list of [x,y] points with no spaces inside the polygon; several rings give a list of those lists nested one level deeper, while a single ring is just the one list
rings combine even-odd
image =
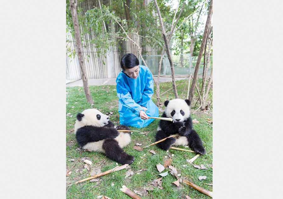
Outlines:
[{"label": "white head of the upright panda facing the camera", "polygon": [[183,99],[170,100],[165,108],[165,114],[173,122],[183,122],[190,117],[190,107]]}]

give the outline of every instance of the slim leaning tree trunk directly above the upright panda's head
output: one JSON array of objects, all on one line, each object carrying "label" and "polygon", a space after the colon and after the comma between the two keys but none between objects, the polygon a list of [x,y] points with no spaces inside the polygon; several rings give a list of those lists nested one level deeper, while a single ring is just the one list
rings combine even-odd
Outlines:
[{"label": "slim leaning tree trunk directly above the upright panda's head", "polygon": [[177,88],[176,88],[176,83],[175,83],[174,65],[173,65],[173,61],[172,61],[171,53],[170,53],[170,49],[169,49],[169,42],[168,42],[165,30],[164,30],[164,26],[163,26],[163,22],[162,22],[162,17],[161,17],[160,10],[158,8],[156,0],[154,0],[154,4],[155,4],[156,10],[157,10],[158,17],[159,17],[159,22],[160,22],[160,26],[161,26],[161,30],[162,30],[162,34],[163,34],[163,39],[164,39],[165,47],[166,47],[166,53],[167,53],[167,56],[168,56],[168,59],[169,59],[169,63],[170,63],[171,74],[172,74],[172,87],[173,87],[173,91],[174,91],[175,97],[179,98],[178,92],[177,92]]}]

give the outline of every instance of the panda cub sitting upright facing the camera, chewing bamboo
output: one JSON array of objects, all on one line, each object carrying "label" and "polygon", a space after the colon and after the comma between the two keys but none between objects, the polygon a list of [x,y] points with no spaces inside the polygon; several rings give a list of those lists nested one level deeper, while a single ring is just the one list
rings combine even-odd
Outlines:
[{"label": "panda cub sitting upright facing the camera, chewing bamboo", "polygon": [[179,133],[179,137],[170,137],[166,140],[157,143],[156,145],[164,150],[174,146],[190,146],[190,148],[199,153],[205,154],[206,151],[203,147],[203,143],[195,130],[193,130],[192,120],[190,117],[190,105],[189,100],[173,99],[165,101],[165,110],[162,117],[172,118],[173,122],[160,120],[155,136],[156,141],[159,141],[165,137]]}]

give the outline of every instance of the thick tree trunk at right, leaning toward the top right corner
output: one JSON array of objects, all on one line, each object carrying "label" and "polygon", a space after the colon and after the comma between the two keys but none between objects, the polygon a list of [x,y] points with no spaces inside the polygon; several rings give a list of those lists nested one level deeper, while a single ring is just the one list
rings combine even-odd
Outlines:
[{"label": "thick tree trunk at right, leaning toward the top right corner", "polygon": [[200,47],[200,50],[199,50],[199,53],[198,53],[197,64],[196,64],[195,72],[194,72],[194,78],[193,78],[192,84],[191,84],[191,90],[190,90],[190,94],[189,94],[189,100],[190,101],[192,101],[192,98],[194,96],[196,81],[198,79],[198,69],[199,69],[199,65],[200,65],[200,62],[201,62],[202,55],[203,55],[205,42],[206,42],[206,39],[207,39],[207,36],[208,36],[208,29],[209,29],[211,15],[212,15],[212,1],[213,0],[210,1],[207,20],[206,20],[206,24],[205,24],[205,28],[204,28],[204,33],[203,33],[203,40],[202,40],[202,44],[201,44],[201,47]]}]

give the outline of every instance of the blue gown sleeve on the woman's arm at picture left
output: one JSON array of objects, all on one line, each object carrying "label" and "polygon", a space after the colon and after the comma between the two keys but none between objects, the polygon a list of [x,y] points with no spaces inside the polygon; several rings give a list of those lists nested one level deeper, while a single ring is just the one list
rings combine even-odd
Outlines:
[{"label": "blue gown sleeve on the woman's arm at picture left", "polygon": [[122,106],[131,109],[132,113],[139,117],[139,113],[143,111],[143,108],[132,99],[130,92],[119,82],[117,82],[116,89],[117,96]]}]

